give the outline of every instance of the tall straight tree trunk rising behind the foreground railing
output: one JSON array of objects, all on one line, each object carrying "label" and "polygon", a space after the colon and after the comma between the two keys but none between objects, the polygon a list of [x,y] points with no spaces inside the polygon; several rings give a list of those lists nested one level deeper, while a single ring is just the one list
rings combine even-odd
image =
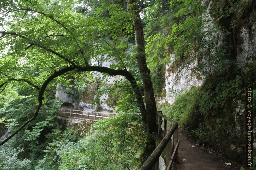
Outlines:
[{"label": "tall straight tree trunk rising behind the foreground railing", "polygon": [[127,0],[127,4],[132,6],[130,7],[131,14],[136,15],[136,18],[133,18],[133,26],[135,32],[135,42],[137,47],[137,63],[139,71],[142,78],[143,88],[144,88],[144,99],[146,103],[146,123],[151,132],[155,131],[156,124],[156,102],[154,96],[153,85],[150,77],[150,70],[147,67],[146,54],[145,54],[145,41],[143,26],[139,14],[138,5],[133,5],[136,3],[135,0]]}]

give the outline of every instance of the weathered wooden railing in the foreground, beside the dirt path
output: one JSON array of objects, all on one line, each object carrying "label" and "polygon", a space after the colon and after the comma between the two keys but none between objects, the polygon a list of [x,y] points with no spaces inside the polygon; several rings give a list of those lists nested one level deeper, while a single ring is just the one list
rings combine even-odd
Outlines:
[{"label": "weathered wooden railing in the foreground, beside the dirt path", "polygon": [[[167,129],[167,121],[172,124],[170,130],[168,130],[169,128]],[[161,111],[157,111],[156,131],[158,136],[161,136],[163,131],[163,139],[139,170],[158,170],[158,160],[162,153],[164,153],[165,157],[166,170],[171,170],[173,162],[177,160],[180,145],[178,123],[163,115]]]}]

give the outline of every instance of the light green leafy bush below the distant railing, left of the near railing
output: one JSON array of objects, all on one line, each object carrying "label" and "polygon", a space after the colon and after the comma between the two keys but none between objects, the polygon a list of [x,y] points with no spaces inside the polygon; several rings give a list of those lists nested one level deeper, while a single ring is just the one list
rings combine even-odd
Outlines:
[{"label": "light green leafy bush below the distant railing, left of the near railing", "polygon": [[137,114],[98,121],[90,134],[58,151],[59,169],[135,170],[149,137]]}]

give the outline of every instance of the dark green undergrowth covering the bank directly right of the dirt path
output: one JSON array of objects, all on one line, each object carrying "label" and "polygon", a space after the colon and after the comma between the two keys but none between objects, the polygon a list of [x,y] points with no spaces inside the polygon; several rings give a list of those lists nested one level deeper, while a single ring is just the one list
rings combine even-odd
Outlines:
[{"label": "dark green undergrowth covering the bank directly right of the dirt path", "polygon": [[[158,110],[179,122],[198,145],[211,146],[226,157],[243,162],[245,92],[248,86],[255,89],[255,67],[233,66],[204,82],[201,87],[178,95],[172,105],[159,105]],[[253,100],[256,101],[256,90]]]}]

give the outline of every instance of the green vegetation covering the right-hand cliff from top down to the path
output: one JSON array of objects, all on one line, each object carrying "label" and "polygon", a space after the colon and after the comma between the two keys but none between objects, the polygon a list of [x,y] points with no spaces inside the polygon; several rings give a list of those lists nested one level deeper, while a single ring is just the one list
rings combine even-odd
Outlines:
[{"label": "green vegetation covering the right-hand cliff from top down to the path", "polygon": [[[204,84],[184,91],[172,105],[164,103],[158,109],[180,122],[199,145],[212,146],[226,157],[244,162],[244,94],[250,85],[255,89],[256,58],[254,55],[249,63],[239,63],[237,49],[243,43],[239,31],[251,29],[255,23],[252,16],[256,4],[250,0],[203,3],[174,0],[170,4],[169,11],[146,24],[148,61],[157,69],[155,65],[168,63],[170,54],[174,54],[174,62],[165,70],[172,73],[196,61],[191,75],[204,77]],[[155,16],[153,9],[158,5],[147,9],[146,16]],[[166,22],[168,17],[171,22]],[[155,34],[150,34],[155,30]],[[158,85],[156,92],[163,89],[161,80],[153,80]]]}]

